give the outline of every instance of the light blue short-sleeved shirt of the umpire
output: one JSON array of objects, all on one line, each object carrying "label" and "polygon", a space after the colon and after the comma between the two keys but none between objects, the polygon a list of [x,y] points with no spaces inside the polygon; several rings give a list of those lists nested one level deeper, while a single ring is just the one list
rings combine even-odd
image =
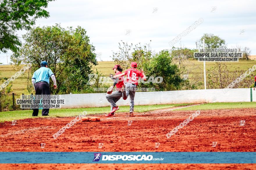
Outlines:
[{"label": "light blue short-sleeved shirt of the umpire", "polygon": [[51,69],[41,67],[40,69],[34,72],[32,79],[35,79],[35,83],[39,81],[46,81],[49,84],[51,75],[54,75]]}]

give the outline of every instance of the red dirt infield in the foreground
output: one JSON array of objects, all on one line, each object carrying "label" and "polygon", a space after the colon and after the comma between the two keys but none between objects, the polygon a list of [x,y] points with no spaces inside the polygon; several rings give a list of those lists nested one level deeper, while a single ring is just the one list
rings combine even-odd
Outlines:
[{"label": "red dirt infield in the foreground", "polygon": [[[77,122],[57,139],[59,129],[74,117],[30,118],[0,124],[0,151],[156,151],[255,152],[255,109],[202,110],[176,134],[166,134],[195,111],[162,109],[146,113],[116,113],[100,122]],[[31,113],[32,114],[32,113]],[[130,126],[128,121],[132,120]],[[245,120],[243,126],[240,121]],[[159,142],[159,148],[155,143]],[[217,142],[216,147],[212,147]],[[45,148],[40,148],[45,143]],[[98,148],[103,143],[102,148]],[[255,164],[0,164],[0,169],[256,169]]]}]

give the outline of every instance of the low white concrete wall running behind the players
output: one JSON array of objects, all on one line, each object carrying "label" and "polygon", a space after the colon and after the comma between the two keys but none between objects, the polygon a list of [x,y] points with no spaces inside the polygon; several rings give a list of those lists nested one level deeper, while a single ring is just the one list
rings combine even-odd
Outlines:
[{"label": "low white concrete wall running behind the players", "polygon": [[[207,90],[178,90],[167,92],[136,92],[135,105],[156,105],[156,104],[177,104],[177,103],[214,103],[214,102],[250,102],[250,88]],[[255,94],[256,91],[253,91]],[[106,107],[109,102],[106,100],[106,93],[90,94],[63,94],[66,104],[61,108],[82,108],[82,107]],[[253,95],[256,101],[256,95]],[[129,105],[127,100],[122,98],[117,102],[118,106]]]}]

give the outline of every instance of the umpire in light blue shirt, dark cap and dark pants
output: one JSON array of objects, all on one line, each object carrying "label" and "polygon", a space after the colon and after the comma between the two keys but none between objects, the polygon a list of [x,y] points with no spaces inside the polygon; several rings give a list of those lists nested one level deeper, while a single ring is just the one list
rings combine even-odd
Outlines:
[{"label": "umpire in light blue shirt, dark cap and dark pants", "polygon": [[[51,95],[50,87],[49,87],[49,79],[52,79],[54,85],[54,89],[57,88],[56,84],[56,78],[51,71],[51,69],[48,68],[48,64],[46,61],[41,62],[41,67],[36,70],[32,76],[32,84],[35,89],[35,95]],[[38,116],[38,109],[33,109],[32,116]],[[43,109],[42,110],[42,116],[49,116],[49,109]]]}]

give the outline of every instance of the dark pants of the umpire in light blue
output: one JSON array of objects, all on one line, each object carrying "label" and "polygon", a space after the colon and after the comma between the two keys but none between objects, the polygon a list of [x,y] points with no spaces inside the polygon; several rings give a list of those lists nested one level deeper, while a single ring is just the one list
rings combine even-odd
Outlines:
[{"label": "dark pants of the umpire in light blue", "polygon": [[[35,94],[36,95],[50,95],[50,87],[48,85],[48,83],[46,82],[39,82],[39,83],[35,83]],[[47,116],[49,113],[49,109],[43,109],[42,110],[42,116]],[[38,116],[38,109],[33,109],[33,114],[32,116]]]}]

